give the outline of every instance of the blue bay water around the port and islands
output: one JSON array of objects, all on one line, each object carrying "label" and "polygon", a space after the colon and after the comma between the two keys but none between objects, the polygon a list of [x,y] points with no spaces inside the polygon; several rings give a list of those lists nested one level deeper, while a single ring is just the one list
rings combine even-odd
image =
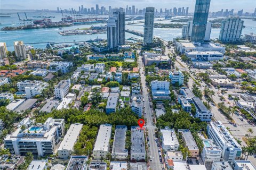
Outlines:
[{"label": "blue bay water around the port and islands", "polygon": [[[21,19],[25,19],[25,14],[22,11],[6,11],[1,10],[1,13],[9,13],[11,17],[8,18],[0,18],[0,28],[3,27],[14,27],[18,25],[23,25],[23,21],[20,21],[17,15],[17,12],[20,14]],[[52,21],[60,21],[62,18],[61,13],[52,13],[52,12],[34,12],[34,11],[26,11],[28,18],[33,18],[33,16],[55,16],[52,18]],[[68,15],[68,14],[64,14]],[[88,17],[86,15],[83,16]],[[107,15],[100,15],[99,17],[108,17]],[[34,18],[40,19],[40,18]],[[137,20],[139,21],[139,20]],[[29,21],[25,21],[29,22]],[[170,20],[165,21],[157,21],[158,23],[171,23]],[[26,23],[27,24],[27,23]],[[94,24],[94,25],[102,25],[102,24]],[[126,29],[137,30],[143,32],[144,27],[140,26],[143,23],[138,25],[126,25]],[[245,28],[242,31],[242,35],[244,33],[254,32],[256,33],[256,21],[245,19],[244,20]],[[69,29],[77,29],[77,28],[89,28],[91,25],[75,25],[72,27],[64,27],[63,30]],[[61,30],[61,31],[63,31]],[[22,40],[24,43],[37,43],[37,42],[70,42],[70,41],[86,41],[89,39],[102,38],[107,39],[107,35],[105,34],[94,34],[94,35],[75,35],[75,36],[61,36],[59,35],[60,30],[58,28],[45,28],[45,29],[31,29],[31,30],[15,30],[15,31],[0,31],[0,41],[5,42],[8,46],[8,50],[13,49],[13,41]],[[181,36],[182,29],[173,29],[173,28],[154,28],[154,36],[165,40],[173,40],[173,38],[177,38]],[[212,29],[211,38],[218,38],[220,33],[220,29]],[[125,35],[126,39],[130,37],[135,37],[142,39],[142,37],[132,35],[131,33],[127,33]],[[33,44],[35,48],[45,48],[45,44]]]}]

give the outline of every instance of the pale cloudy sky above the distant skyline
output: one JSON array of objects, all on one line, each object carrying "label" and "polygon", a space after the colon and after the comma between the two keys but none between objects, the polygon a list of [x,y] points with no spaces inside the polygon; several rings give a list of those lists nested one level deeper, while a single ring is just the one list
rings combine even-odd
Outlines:
[{"label": "pale cloudy sky above the distant skyline", "polygon": [[[105,6],[108,8],[110,5],[114,7],[126,7],[126,5],[135,5],[135,8],[145,8],[153,6],[159,11],[160,8],[173,8],[173,7],[189,7],[189,12],[194,11],[195,0],[0,0],[0,9],[18,9],[18,10],[41,10],[49,9],[56,10],[57,7],[75,8],[79,5],[84,5],[86,8],[94,7],[95,4]],[[234,11],[244,9],[244,12],[254,12],[256,7],[255,0],[211,0],[210,11],[220,11],[222,8],[233,8]]]}]

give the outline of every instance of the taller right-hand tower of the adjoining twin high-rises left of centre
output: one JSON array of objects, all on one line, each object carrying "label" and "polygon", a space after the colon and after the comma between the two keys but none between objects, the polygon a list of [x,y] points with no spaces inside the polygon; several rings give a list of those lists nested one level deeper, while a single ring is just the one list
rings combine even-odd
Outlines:
[{"label": "taller right-hand tower of the adjoining twin high-rises left of centre", "polygon": [[125,45],[125,11],[124,8],[116,8],[113,10],[113,16],[116,16],[116,35],[117,45]]}]

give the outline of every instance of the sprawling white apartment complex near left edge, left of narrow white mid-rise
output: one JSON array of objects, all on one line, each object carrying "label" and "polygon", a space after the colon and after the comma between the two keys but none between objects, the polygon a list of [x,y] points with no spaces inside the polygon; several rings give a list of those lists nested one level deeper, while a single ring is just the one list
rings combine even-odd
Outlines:
[{"label": "sprawling white apartment complex near left edge, left of narrow white mid-rise", "polygon": [[17,87],[19,91],[26,92],[26,98],[31,98],[36,95],[41,95],[42,91],[48,87],[48,83],[42,81],[20,81],[17,83]]}]

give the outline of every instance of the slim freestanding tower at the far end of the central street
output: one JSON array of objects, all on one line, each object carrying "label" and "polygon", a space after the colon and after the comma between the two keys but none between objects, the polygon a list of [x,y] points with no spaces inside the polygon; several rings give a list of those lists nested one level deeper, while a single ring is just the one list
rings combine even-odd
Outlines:
[{"label": "slim freestanding tower at the far end of the central street", "polygon": [[145,13],[145,25],[144,25],[144,41],[143,44],[151,44],[153,41],[153,29],[154,29],[154,7],[147,7]]}]

